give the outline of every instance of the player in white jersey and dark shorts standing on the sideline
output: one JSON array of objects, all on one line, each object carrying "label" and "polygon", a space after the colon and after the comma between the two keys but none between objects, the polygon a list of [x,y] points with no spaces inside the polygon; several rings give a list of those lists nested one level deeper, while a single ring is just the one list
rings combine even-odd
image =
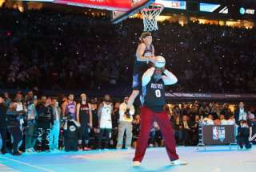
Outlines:
[{"label": "player in white jersey and dark shorts standing on the sideline", "polygon": [[[104,101],[98,107],[98,118],[99,118],[99,138],[98,147],[108,148],[110,143],[110,132],[112,130],[112,119],[111,114],[113,111],[113,104],[110,102],[110,96],[106,95]],[[102,136],[105,133],[105,147],[102,147]]]}]

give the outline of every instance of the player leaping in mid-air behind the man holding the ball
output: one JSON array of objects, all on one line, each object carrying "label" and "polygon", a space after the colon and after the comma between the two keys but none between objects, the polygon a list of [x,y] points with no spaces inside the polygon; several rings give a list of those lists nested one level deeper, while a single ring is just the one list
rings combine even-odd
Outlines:
[{"label": "player leaping in mid-air behind the man holding the ball", "polygon": [[152,45],[151,33],[142,33],[139,38],[141,43],[138,45],[134,60],[133,72],[133,92],[128,100],[128,108],[134,104],[141,88],[142,74],[149,68],[149,62],[154,63],[154,46]]}]

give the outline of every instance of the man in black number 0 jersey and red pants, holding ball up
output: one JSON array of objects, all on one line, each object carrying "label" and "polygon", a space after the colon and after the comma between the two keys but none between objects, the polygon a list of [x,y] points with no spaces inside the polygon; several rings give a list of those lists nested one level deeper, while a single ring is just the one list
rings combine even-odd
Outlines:
[{"label": "man in black number 0 jersey and red pants, holding ball up", "polygon": [[149,140],[150,129],[154,120],[158,123],[165,140],[166,151],[170,158],[170,165],[186,165],[179,160],[175,149],[173,129],[166,111],[164,111],[165,86],[175,84],[176,76],[164,68],[165,59],[156,57],[154,67],[149,68],[142,76],[142,108],[141,131],[138,135],[138,146],[134,156],[134,166],[140,166]]}]

